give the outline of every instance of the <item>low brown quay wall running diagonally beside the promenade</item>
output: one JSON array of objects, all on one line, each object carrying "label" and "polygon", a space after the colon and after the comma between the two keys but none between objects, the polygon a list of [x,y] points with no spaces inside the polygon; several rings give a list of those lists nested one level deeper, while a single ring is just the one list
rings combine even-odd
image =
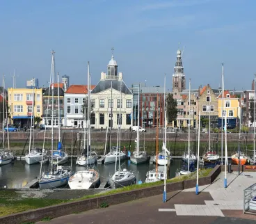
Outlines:
[{"label": "low brown quay wall running diagonally beside the promenade", "polygon": [[[216,166],[207,177],[201,177],[199,179],[200,185],[211,184],[214,179],[221,173],[221,166]],[[182,191],[183,189],[189,189],[194,187],[196,179],[184,180],[182,182],[167,183],[166,191]],[[61,205],[54,205],[44,207],[41,209],[33,209],[31,211],[24,211],[10,216],[0,217],[1,224],[13,223],[19,224],[29,221],[40,221],[45,217],[56,218],[59,216],[65,216],[68,214],[74,214],[77,212],[88,211],[91,209],[98,209],[103,203],[106,205],[118,205],[123,202],[131,200],[138,200],[140,198],[147,198],[152,195],[159,195],[163,193],[163,185],[152,186],[143,189],[136,189],[133,191],[125,191],[122,193],[115,193],[113,195],[103,195],[97,198],[90,198],[86,200],[80,200],[75,202],[67,202]]]}]

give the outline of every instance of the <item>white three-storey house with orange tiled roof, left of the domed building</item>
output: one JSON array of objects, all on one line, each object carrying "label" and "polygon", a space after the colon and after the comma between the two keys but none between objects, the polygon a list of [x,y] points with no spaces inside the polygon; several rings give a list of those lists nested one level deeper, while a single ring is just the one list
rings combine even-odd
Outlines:
[{"label": "white three-storey house with orange tiled roof, left of the domed building", "polygon": [[[90,86],[93,90],[95,86]],[[64,114],[65,127],[86,127],[87,118],[84,118],[83,109],[87,107],[88,86],[87,85],[71,85],[64,94]],[[92,109],[94,108],[93,100],[91,100]],[[91,111],[91,119],[95,120],[95,113]]]}]

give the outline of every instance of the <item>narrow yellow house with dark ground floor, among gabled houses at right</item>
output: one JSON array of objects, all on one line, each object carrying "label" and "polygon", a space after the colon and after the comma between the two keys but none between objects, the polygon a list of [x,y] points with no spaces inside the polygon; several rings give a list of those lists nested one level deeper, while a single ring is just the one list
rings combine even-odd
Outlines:
[{"label": "narrow yellow house with dark ground floor, among gabled houses at right", "polygon": [[223,111],[223,127],[225,126],[225,114],[227,114],[227,128],[234,129],[240,120],[240,101],[236,95],[231,95],[228,90],[218,96],[218,127],[221,127],[221,111]]}]

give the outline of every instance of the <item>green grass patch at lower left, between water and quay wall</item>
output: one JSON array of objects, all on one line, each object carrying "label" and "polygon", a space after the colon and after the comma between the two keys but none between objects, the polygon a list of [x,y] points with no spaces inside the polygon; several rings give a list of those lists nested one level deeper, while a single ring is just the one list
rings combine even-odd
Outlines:
[{"label": "green grass patch at lower left, between water and quay wall", "polygon": [[6,189],[0,191],[0,216],[8,216],[29,209],[38,209],[50,205],[61,204],[69,200],[44,198],[22,198],[18,191]]}]

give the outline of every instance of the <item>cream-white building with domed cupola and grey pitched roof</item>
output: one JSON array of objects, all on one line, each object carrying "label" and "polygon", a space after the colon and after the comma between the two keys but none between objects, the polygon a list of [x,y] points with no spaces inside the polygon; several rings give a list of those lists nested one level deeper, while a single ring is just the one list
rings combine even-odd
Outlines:
[{"label": "cream-white building with domed cupola and grey pitched roof", "polygon": [[91,91],[92,128],[118,129],[119,124],[121,129],[131,127],[133,95],[122,78],[122,72],[118,72],[118,63],[112,54],[107,72],[101,73],[99,82]]}]

